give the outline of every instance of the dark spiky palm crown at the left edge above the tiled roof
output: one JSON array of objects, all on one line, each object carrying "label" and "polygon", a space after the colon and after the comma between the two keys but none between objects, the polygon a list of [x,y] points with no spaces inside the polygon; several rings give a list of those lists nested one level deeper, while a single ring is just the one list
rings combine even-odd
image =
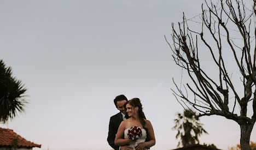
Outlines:
[{"label": "dark spiky palm crown at the left edge above the tiled roof", "polygon": [[5,67],[0,59],[0,122],[13,119],[18,112],[23,112],[27,101],[24,99],[25,85],[12,76],[10,67]]}]

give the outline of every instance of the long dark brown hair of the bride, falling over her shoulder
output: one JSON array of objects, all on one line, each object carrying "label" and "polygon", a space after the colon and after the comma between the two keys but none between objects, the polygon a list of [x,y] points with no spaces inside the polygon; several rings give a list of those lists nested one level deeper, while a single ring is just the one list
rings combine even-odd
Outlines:
[{"label": "long dark brown hair of the bride, falling over her shoulder", "polygon": [[[126,103],[124,104],[124,107],[125,107],[125,110],[127,110],[126,109],[126,105],[127,104],[130,104],[132,107],[138,107],[138,116],[139,116],[139,122],[141,122],[141,124],[143,125],[143,128],[145,129],[145,130],[147,130],[146,128],[145,128],[145,124],[146,124],[146,122],[144,121],[144,119],[146,119],[146,117],[145,117],[145,115],[144,115],[144,112],[142,111],[142,104],[141,104],[141,100],[139,100],[139,98],[133,98],[133,99],[131,99],[131,100],[128,100],[128,101],[126,101]],[[135,110],[132,110],[132,111],[134,111],[135,112]]]}]

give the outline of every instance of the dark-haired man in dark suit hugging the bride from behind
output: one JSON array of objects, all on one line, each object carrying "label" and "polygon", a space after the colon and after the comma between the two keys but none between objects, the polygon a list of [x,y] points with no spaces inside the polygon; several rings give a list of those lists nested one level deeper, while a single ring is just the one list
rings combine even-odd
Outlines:
[{"label": "dark-haired man in dark suit hugging the bride from behind", "polygon": [[115,114],[114,116],[110,117],[109,126],[108,126],[108,144],[114,148],[115,150],[132,150],[133,148],[130,146],[116,146],[115,141],[115,135],[117,134],[118,127],[120,123],[128,118],[128,115],[126,114],[124,104],[126,103],[127,98],[125,95],[118,95],[114,99],[115,107],[120,111],[119,113]]}]

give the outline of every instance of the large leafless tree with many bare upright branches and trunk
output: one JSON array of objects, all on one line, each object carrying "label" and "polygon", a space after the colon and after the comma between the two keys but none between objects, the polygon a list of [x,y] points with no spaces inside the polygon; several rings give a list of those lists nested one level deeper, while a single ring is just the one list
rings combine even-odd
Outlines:
[{"label": "large leafless tree with many bare upright branches and trunk", "polygon": [[[250,31],[255,23],[252,21],[256,15],[256,0],[250,3],[249,8],[242,0],[220,0],[218,4],[205,1],[200,17],[201,31],[192,30],[184,16],[183,22],[178,23],[178,30],[172,24],[173,45],[166,40],[173,51],[174,61],[187,70],[192,83],[182,89],[174,82],[176,89],[172,91],[179,103],[183,107],[193,106],[199,112],[197,117],[219,115],[237,122],[241,128],[240,145],[246,150],[250,149],[249,141],[256,121],[255,24],[253,33]],[[202,49],[202,46],[206,48]],[[214,64],[211,69],[216,69],[217,76],[207,73],[210,66],[205,67],[207,63],[200,62],[201,51],[208,51],[208,59]],[[228,51],[231,55],[224,57],[223,53]],[[233,68],[239,71],[240,85],[232,80],[232,72],[226,67],[231,58]],[[188,96],[190,93],[193,98]],[[240,112],[236,114],[237,108]],[[248,108],[253,108],[252,116],[247,115]]]}]

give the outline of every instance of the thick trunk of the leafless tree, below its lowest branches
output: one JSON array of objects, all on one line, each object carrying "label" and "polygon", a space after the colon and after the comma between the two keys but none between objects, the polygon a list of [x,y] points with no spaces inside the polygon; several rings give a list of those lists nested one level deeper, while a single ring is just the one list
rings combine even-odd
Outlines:
[{"label": "thick trunk of the leafless tree, below its lowest branches", "polygon": [[240,145],[241,150],[250,150],[250,137],[252,133],[252,127],[251,124],[240,124],[241,129],[241,137],[240,137]]}]

